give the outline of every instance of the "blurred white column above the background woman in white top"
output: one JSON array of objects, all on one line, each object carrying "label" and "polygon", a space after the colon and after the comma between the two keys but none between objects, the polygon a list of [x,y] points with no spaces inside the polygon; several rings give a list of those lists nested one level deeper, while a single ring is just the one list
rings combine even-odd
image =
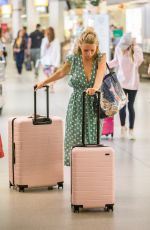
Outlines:
[{"label": "blurred white column above the background woman in white top", "polygon": [[60,42],[64,41],[64,6],[63,0],[49,0],[49,25],[55,29]]}]

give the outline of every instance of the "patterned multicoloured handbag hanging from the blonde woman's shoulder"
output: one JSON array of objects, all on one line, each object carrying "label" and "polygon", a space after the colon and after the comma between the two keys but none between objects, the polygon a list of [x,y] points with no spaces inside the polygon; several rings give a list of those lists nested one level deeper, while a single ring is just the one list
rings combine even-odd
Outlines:
[{"label": "patterned multicoloured handbag hanging from the blonde woman's shoulder", "polygon": [[[101,86],[100,95],[100,118],[112,117],[128,102],[128,98],[123,91],[116,73],[111,72],[109,65],[106,63],[109,73],[105,75]],[[93,107],[95,110],[96,95],[94,95]],[[98,103],[98,102],[97,102]]]}]

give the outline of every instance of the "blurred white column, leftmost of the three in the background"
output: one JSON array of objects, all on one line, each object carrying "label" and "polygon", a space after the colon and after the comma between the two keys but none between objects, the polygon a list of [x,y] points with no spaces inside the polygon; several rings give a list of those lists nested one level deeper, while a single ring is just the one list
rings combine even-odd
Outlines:
[{"label": "blurred white column, leftmost of the three in the background", "polygon": [[16,38],[18,30],[21,29],[21,0],[12,1],[12,32],[13,38]]}]

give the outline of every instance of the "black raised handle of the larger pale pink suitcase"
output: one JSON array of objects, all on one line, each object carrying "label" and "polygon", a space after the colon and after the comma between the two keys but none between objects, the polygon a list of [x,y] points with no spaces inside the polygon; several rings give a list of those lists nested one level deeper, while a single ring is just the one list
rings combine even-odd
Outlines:
[{"label": "black raised handle of the larger pale pink suitcase", "polygon": [[33,117],[33,125],[47,125],[51,124],[52,120],[49,118],[49,86],[45,85],[43,87],[46,88],[46,117],[39,117],[37,115],[37,93],[36,87],[34,86],[34,117]]}]

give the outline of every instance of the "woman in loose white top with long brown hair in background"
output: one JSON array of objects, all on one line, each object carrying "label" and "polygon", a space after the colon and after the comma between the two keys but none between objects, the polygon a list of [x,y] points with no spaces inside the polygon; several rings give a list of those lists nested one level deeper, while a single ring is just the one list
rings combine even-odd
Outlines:
[{"label": "woman in loose white top with long brown hair in background", "polygon": [[[46,77],[49,77],[60,66],[60,52],[60,43],[55,38],[54,28],[49,27],[41,44],[41,64]],[[51,83],[50,90],[54,92],[54,82]]]}]

